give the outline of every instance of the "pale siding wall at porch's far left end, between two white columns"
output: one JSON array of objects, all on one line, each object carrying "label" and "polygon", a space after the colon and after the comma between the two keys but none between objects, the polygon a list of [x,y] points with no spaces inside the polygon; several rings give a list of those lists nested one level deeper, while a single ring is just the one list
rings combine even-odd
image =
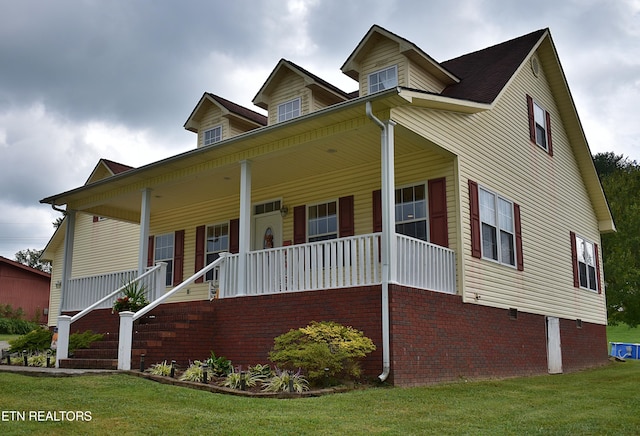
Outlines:
[{"label": "pale siding wall at porch's far left end, between two white columns", "polygon": [[78,213],[71,277],[84,277],[138,267],[139,226],[113,219],[93,222]]}]

